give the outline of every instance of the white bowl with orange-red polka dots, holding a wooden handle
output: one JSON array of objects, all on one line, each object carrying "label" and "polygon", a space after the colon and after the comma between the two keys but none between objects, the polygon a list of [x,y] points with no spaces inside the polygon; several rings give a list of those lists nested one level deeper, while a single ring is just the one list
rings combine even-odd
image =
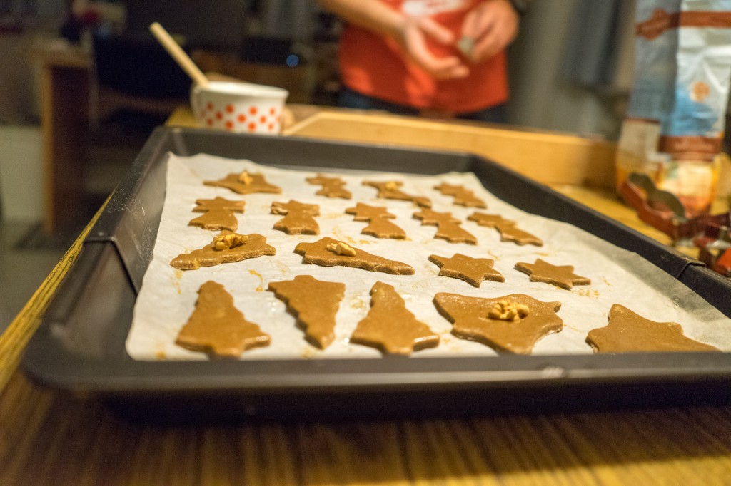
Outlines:
[{"label": "white bowl with orange-red polka dots, holding a wooden handle", "polygon": [[279,134],[289,91],[250,82],[211,81],[191,88],[199,126],[236,133]]}]

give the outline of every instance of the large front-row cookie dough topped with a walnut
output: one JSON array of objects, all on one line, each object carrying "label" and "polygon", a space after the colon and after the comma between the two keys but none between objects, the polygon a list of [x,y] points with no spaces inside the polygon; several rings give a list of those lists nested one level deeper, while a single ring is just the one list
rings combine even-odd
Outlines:
[{"label": "large front-row cookie dough topped with a walnut", "polygon": [[564,328],[564,320],[556,315],[561,302],[523,294],[479,298],[437,293],[434,305],[452,323],[452,334],[497,352],[529,355],[539,339]]}]

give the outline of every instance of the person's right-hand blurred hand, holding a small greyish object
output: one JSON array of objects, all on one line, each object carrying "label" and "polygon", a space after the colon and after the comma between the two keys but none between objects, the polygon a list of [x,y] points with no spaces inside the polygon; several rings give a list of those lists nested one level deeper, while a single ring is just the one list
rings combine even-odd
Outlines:
[{"label": "person's right-hand blurred hand, holding a small greyish object", "polygon": [[472,39],[466,56],[473,63],[503,50],[518,35],[518,12],[508,0],[485,0],[472,9],[462,24],[462,36]]}]

